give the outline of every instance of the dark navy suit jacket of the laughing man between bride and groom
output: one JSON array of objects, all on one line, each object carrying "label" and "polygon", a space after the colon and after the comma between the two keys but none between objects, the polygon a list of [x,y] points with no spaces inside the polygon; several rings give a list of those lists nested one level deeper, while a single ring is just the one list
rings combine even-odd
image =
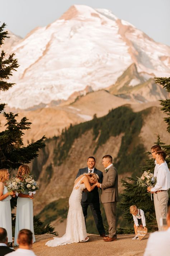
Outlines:
[{"label": "dark navy suit jacket of the laughing man between bride and groom", "polygon": [[[88,167],[79,169],[79,172],[77,173],[77,177],[79,177],[83,173],[88,173]],[[98,169],[94,168],[94,173],[96,173],[99,176],[99,182],[101,183],[103,180],[103,173],[99,171]],[[99,202],[99,192],[98,187],[95,187],[90,192],[82,192],[82,202],[88,201],[89,203],[97,203]]]}]

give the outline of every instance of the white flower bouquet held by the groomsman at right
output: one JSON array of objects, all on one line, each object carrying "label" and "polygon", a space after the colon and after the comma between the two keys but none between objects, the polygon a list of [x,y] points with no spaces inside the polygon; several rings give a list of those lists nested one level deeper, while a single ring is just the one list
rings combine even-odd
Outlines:
[{"label": "white flower bouquet held by the groomsman at right", "polygon": [[156,177],[150,170],[143,172],[142,176],[137,178],[137,185],[141,187],[154,187],[156,184]]}]

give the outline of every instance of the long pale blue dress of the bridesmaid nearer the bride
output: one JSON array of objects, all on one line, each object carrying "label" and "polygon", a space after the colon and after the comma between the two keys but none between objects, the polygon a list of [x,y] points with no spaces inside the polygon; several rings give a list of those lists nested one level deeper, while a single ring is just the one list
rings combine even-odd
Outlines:
[{"label": "long pale blue dress of the bridesmaid nearer the bride", "polygon": [[[24,191],[23,194],[28,195],[28,191]],[[33,224],[33,200],[30,198],[18,197],[17,199],[14,246],[18,245],[16,241],[21,229],[32,231],[33,243],[36,242]]]}]

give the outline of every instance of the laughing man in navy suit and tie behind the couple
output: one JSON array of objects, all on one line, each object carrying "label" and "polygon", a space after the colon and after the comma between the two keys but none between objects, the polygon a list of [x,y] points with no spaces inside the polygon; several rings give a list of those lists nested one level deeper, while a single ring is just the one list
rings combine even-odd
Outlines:
[{"label": "laughing man in navy suit and tie behind the couple", "polygon": [[[99,176],[99,181],[102,182],[103,173],[95,168],[95,163],[96,163],[96,160],[94,156],[89,156],[87,161],[88,167],[79,169],[79,172],[77,173],[76,178],[83,173],[96,173]],[[97,187],[95,187],[94,190],[90,192],[84,192],[84,191],[82,192],[81,206],[82,206],[85,222],[88,215],[87,213],[88,206],[90,206],[100,237],[105,237],[105,230],[103,226],[103,220],[101,217],[100,200],[99,200],[99,193],[98,193]]]}]

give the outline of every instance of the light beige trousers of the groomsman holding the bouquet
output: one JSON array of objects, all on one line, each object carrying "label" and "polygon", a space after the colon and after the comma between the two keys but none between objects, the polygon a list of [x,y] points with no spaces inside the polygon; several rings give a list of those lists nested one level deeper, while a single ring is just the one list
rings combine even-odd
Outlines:
[{"label": "light beige trousers of the groomsman holding the bouquet", "polygon": [[167,214],[167,202],[168,202],[168,193],[167,190],[154,193],[154,206],[156,213],[156,221],[159,231],[161,231],[160,218],[166,217]]}]

